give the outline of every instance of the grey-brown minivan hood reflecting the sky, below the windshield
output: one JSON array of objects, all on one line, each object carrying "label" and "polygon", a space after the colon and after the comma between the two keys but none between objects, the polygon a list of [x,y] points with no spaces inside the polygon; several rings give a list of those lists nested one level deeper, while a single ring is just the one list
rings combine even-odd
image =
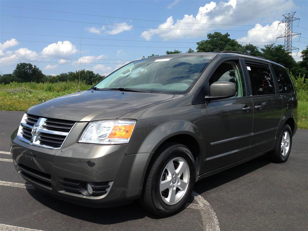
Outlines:
[{"label": "grey-brown minivan hood reflecting the sky, below the windshield", "polygon": [[173,96],[128,91],[82,91],[34,105],[27,113],[73,121],[108,120]]}]

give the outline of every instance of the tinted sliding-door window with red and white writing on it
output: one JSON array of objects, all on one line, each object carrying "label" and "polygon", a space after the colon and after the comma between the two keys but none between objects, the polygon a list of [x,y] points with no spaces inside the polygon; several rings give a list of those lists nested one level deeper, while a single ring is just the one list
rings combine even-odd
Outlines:
[{"label": "tinted sliding-door window with red and white writing on it", "polygon": [[274,82],[268,66],[246,63],[252,95],[275,94]]}]

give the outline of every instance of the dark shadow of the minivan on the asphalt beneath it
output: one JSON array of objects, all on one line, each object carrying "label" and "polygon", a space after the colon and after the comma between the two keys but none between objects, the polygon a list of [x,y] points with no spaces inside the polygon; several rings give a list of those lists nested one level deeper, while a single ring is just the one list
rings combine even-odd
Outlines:
[{"label": "dark shadow of the minivan on the asphalt beneath it", "polygon": [[[235,180],[245,174],[253,172],[258,168],[270,164],[271,162],[265,156],[258,157],[247,163],[230,168],[223,172],[209,176],[196,183],[194,191],[201,194],[212,188],[218,187],[232,180]],[[161,219],[145,211],[137,201],[132,204],[123,205],[112,208],[90,208],[81,205],[75,205],[66,201],[61,201],[57,198],[51,197],[39,190],[27,189],[29,194],[41,204],[48,208],[62,213],[66,216],[74,217],[76,219],[93,222],[96,224],[110,225],[121,223],[130,220],[138,220],[144,217],[152,219]],[[205,198],[206,199],[206,198]],[[192,203],[192,198],[188,200]]]}]

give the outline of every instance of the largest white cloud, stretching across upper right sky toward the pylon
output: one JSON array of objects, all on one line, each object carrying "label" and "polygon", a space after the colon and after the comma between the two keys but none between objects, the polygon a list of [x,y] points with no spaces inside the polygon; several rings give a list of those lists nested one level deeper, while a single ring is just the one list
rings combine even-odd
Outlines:
[{"label": "largest white cloud, stretching across upper right sky toward the pylon", "polygon": [[[246,4],[254,6],[247,6]],[[177,20],[169,16],[166,19],[167,22],[156,26],[160,29],[145,30],[141,33],[141,37],[148,41],[154,35],[158,35],[164,40],[206,38],[206,34],[213,33],[215,30],[236,30],[238,28],[236,26],[219,24],[241,25],[255,21],[274,21],[273,15],[277,15],[277,10],[264,9],[265,6],[266,8],[285,10],[294,8],[295,4],[293,1],[287,0],[253,1],[253,3],[251,1],[238,2],[236,0],[229,0],[228,2],[220,1],[217,3],[210,2],[199,7],[198,13],[195,16],[193,14],[185,14],[182,19]],[[276,19],[280,18],[276,16]],[[172,30],[165,28],[171,28]],[[276,29],[277,27],[274,27],[274,30]],[[226,32],[228,31],[222,31],[222,33]]]}]

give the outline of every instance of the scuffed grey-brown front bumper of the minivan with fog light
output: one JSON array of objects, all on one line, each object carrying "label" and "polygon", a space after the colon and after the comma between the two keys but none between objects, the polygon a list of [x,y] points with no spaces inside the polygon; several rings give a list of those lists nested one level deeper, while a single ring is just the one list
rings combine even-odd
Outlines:
[{"label": "scuffed grey-brown front bumper of the minivan with fog light", "polygon": [[[26,144],[13,133],[11,155],[17,172],[51,196],[89,207],[109,207],[137,199],[142,192],[153,153],[125,155],[127,145],[75,143],[52,150]],[[65,188],[67,181],[72,184],[64,184]],[[98,185],[100,193],[86,196],[76,190],[87,183]]]}]

